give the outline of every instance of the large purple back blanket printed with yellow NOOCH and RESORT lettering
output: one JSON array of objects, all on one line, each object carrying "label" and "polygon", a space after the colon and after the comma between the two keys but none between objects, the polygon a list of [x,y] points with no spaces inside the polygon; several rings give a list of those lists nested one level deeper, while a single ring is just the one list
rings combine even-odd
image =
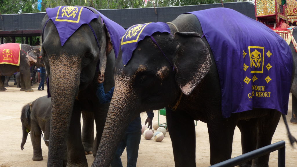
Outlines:
[{"label": "large purple back blanket printed with yellow NOOCH and RESORT lettering", "polygon": [[199,19],[217,65],[223,116],[252,108],[287,114],[293,59],[286,41],[235,10],[189,13]]}]

